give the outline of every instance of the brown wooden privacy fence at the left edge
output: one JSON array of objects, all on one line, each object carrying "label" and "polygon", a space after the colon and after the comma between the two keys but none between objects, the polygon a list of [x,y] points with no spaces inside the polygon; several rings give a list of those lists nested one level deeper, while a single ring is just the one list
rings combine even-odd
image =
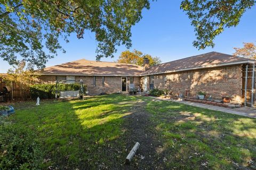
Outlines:
[{"label": "brown wooden privacy fence at the left edge", "polygon": [[4,100],[28,100],[30,99],[29,87],[22,83],[5,82],[0,77],[0,91],[3,91],[5,86],[11,87],[10,94],[4,96]]}]

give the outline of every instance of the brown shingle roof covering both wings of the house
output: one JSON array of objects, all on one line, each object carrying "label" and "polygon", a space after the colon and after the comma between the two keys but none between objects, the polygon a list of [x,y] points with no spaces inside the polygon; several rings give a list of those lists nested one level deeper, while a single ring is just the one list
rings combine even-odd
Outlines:
[{"label": "brown shingle roof covering both wings of the house", "polygon": [[114,62],[98,62],[89,60],[77,60],[60,65],[46,67],[42,74],[52,75],[116,75],[116,76],[139,76],[158,73],[193,70],[203,67],[218,66],[220,64],[234,65],[237,62],[255,62],[243,57],[228,55],[218,52],[191,56],[151,66],[146,72],[143,67],[135,64],[122,64]]}]

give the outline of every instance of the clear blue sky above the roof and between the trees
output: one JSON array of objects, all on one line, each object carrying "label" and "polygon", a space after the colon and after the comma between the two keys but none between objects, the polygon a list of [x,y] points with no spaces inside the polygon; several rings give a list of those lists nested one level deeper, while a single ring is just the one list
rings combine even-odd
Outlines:
[{"label": "clear blue sky above the roof and between the trees", "polygon": [[[247,10],[239,25],[227,28],[215,40],[214,48],[198,50],[193,47],[195,40],[194,28],[190,25],[187,15],[180,10],[181,1],[151,2],[150,10],[143,10],[143,18],[132,27],[132,48],[145,54],[158,56],[162,62],[178,60],[207,52],[221,52],[233,54],[234,47],[242,47],[243,42],[256,43],[256,6]],[[66,63],[85,58],[95,60],[97,47],[93,33],[85,31],[84,39],[77,39],[76,35],[69,38],[68,44],[61,41],[66,53],[59,53],[49,60],[46,66]],[[117,47],[114,58],[102,58],[101,61],[116,61],[124,46]],[[11,66],[0,58],[0,73],[5,73]]]}]

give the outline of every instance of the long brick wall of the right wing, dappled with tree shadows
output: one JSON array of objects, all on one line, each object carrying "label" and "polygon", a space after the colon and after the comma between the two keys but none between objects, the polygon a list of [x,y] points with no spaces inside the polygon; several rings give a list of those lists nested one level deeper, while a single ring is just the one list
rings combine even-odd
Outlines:
[{"label": "long brick wall of the right wing, dappled with tree shadows", "polygon": [[[241,96],[242,66],[218,67],[180,73],[159,74],[154,76],[154,88],[169,89],[174,94],[196,96],[198,91],[207,96],[221,98],[223,96]],[[166,82],[164,78],[166,77]],[[148,85],[149,86],[149,85]]]}]

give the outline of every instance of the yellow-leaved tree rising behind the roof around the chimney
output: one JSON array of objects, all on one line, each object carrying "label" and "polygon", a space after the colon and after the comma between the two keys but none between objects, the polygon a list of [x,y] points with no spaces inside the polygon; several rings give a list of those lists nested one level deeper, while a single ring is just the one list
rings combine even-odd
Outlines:
[{"label": "yellow-leaved tree rising behind the roof around the chimney", "polygon": [[143,66],[144,58],[149,59],[150,66],[160,64],[162,62],[159,57],[152,57],[149,54],[143,55],[142,52],[134,49],[133,52],[130,52],[129,50],[122,52],[117,60],[117,63],[137,64]]}]

